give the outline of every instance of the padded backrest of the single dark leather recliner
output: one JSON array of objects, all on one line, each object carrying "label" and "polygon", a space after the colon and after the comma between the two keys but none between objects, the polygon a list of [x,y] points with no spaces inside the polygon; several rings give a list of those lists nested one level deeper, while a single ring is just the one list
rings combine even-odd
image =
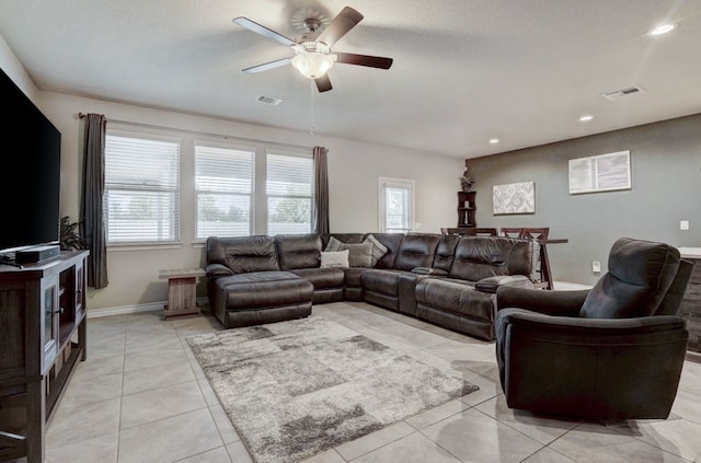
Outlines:
[{"label": "padded backrest of the single dark leather recliner", "polygon": [[679,251],[665,243],[622,238],[609,270],[589,290],[579,316],[627,319],[655,313],[679,268]]}]

